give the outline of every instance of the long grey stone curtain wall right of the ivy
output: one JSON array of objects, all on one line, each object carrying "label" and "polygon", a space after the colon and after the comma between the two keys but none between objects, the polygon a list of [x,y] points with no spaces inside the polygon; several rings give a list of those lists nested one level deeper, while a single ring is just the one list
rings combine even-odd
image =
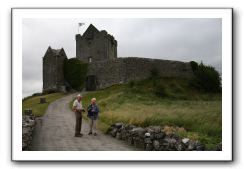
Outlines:
[{"label": "long grey stone curtain wall right of the ivy", "polygon": [[117,58],[107,61],[92,62],[87,75],[95,75],[97,89],[131,80],[142,80],[150,76],[156,68],[161,77],[190,78],[193,76],[190,63],[149,58]]}]

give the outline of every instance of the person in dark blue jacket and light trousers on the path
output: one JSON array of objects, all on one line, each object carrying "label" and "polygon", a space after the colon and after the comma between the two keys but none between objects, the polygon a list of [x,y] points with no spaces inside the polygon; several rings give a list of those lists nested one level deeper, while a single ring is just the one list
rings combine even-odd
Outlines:
[{"label": "person in dark blue jacket and light trousers on the path", "polygon": [[98,113],[99,113],[99,108],[96,104],[96,98],[91,99],[91,104],[87,108],[87,116],[90,119],[90,132],[88,135],[91,135],[92,132],[94,133],[94,136],[97,135],[96,133],[96,123],[97,123],[97,118],[98,118]]}]

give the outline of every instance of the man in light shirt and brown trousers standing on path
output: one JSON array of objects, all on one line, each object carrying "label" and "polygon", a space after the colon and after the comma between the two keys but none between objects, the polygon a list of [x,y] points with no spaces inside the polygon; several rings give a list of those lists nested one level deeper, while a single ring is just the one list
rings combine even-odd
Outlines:
[{"label": "man in light shirt and brown trousers standing on path", "polygon": [[80,94],[77,95],[76,100],[73,103],[73,111],[75,112],[75,137],[82,137],[83,134],[81,134],[81,124],[82,124],[82,111],[84,109],[82,108],[82,102],[81,102],[82,96]]}]

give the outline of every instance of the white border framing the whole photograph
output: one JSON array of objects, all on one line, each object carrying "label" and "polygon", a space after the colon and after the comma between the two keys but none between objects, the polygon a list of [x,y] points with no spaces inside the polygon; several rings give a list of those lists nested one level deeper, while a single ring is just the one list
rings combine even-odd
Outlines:
[{"label": "white border framing the whole photograph", "polygon": [[[22,20],[25,18],[221,18],[222,151],[22,151]],[[12,160],[231,161],[232,9],[12,9]]]}]

